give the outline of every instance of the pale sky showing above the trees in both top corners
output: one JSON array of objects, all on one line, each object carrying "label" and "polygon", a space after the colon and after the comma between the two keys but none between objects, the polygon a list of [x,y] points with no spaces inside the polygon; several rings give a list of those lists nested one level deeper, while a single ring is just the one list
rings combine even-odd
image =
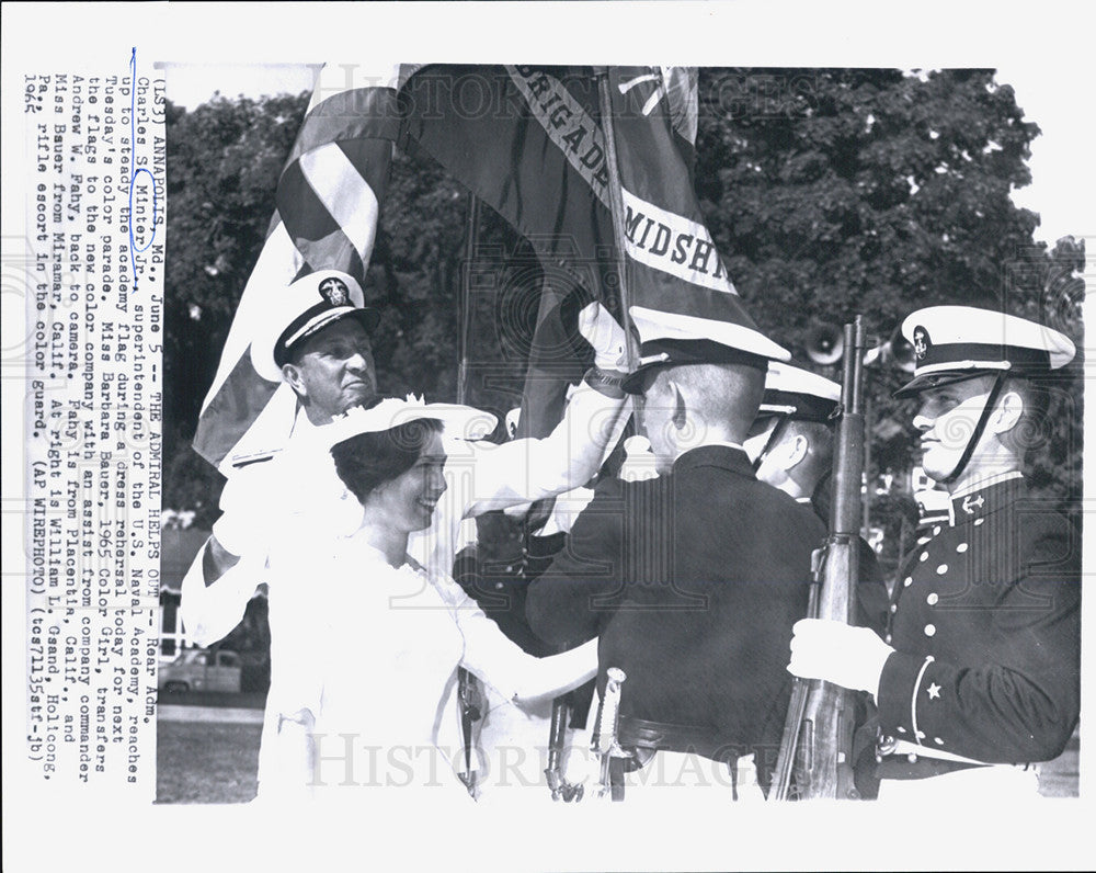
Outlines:
[{"label": "pale sky showing above the trees in both top corners", "polygon": [[[311,90],[312,66],[164,64],[169,98],[187,109],[225,97],[259,97]],[[1031,184],[1013,192],[1013,202],[1039,213],[1036,239],[1048,245],[1066,234],[1096,237],[1096,215],[1083,190],[1092,181],[1093,159],[1086,154],[1088,120],[1082,92],[1039,57],[1019,58],[997,68],[997,81],[1016,92],[1016,102],[1042,133],[1031,145]],[[1091,141],[1087,143],[1091,149]]]}]

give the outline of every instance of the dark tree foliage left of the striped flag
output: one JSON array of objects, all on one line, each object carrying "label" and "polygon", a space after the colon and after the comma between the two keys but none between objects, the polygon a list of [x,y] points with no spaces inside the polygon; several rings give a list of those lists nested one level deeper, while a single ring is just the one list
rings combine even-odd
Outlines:
[{"label": "dark tree foliage left of the striped flag", "polygon": [[307,95],[168,103],[164,506],[217,514],[221,477],[190,447],[198,410],[273,213]]}]

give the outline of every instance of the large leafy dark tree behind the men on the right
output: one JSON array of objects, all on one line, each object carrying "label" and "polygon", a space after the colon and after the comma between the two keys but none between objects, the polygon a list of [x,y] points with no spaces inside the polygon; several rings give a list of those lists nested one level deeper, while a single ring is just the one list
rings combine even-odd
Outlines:
[{"label": "large leafy dark tree behind the men on the right", "polygon": [[[992,70],[706,69],[697,190],[751,314],[794,349],[857,313],[880,339],[937,303],[1039,317],[1050,259],[1009,199],[1038,133]],[[872,373],[877,420],[910,421],[903,378]],[[905,427],[876,438],[878,468],[909,468]]]}]

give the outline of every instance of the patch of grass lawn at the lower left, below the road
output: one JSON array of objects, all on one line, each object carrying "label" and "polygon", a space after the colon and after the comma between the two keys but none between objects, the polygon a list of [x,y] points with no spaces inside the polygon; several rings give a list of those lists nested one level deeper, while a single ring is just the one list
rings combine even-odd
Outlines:
[{"label": "patch of grass lawn at the lower left, below the road", "polygon": [[159,722],[157,803],[243,803],[255,796],[259,725]]}]

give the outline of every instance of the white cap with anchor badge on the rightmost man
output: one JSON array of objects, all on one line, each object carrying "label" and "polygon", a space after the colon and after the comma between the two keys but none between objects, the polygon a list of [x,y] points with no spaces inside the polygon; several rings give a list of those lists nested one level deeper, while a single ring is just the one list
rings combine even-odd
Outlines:
[{"label": "white cap with anchor badge on the rightmost man", "polygon": [[913,345],[916,367],[895,397],[985,373],[1049,373],[1076,354],[1073,341],[1053,328],[973,306],[918,309],[902,322],[902,335]]}]

